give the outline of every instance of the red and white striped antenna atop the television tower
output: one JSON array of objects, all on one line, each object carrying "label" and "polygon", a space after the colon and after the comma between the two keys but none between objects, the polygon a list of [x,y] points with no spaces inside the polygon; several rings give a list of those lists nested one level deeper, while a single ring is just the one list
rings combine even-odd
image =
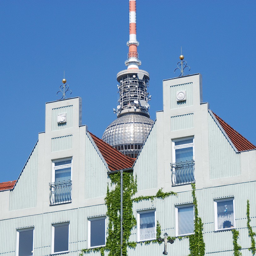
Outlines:
[{"label": "red and white striped antenna atop the television tower", "polygon": [[130,37],[127,42],[129,47],[128,60],[125,61],[127,69],[138,69],[141,65],[141,61],[138,59],[137,47],[139,42],[136,38],[136,0],[129,0],[129,31]]}]

